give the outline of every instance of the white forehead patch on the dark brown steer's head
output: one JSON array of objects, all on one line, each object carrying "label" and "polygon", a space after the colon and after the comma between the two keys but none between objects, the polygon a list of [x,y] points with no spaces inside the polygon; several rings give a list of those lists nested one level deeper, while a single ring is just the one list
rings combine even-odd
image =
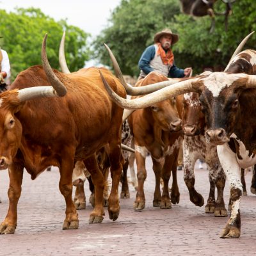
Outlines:
[{"label": "white forehead patch on the dark brown steer's head", "polygon": [[202,79],[205,87],[212,93],[213,97],[218,97],[221,90],[229,87],[234,81],[241,77],[246,77],[246,74],[227,74],[225,72],[214,72]]}]

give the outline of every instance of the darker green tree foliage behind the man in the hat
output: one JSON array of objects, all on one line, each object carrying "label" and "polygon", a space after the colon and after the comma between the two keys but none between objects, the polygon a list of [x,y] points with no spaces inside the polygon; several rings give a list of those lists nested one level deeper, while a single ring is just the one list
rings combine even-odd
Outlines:
[{"label": "darker green tree foliage behind the man in the hat", "polygon": [[[223,12],[225,4],[218,1],[216,10]],[[194,18],[180,13],[177,0],[122,0],[109,19],[108,26],[94,42],[95,57],[110,65],[103,43],[109,45],[124,74],[138,76],[138,60],[145,47],[153,44],[154,34],[171,28],[180,40],[173,46],[175,63],[180,68],[193,67],[195,73],[204,67],[221,70],[227,65],[234,49],[244,36],[256,29],[256,1],[236,1],[225,31],[224,16],[216,17],[214,33],[209,33],[209,17]],[[246,44],[253,49],[256,35]]]}]

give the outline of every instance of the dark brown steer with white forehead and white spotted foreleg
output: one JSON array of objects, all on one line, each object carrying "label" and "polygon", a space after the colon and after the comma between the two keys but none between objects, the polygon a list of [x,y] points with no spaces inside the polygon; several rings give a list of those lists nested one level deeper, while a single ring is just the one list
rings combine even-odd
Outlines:
[{"label": "dark brown steer with white forehead and white spotted foreleg", "polygon": [[[250,50],[244,53],[243,59],[254,73],[256,52]],[[106,81],[104,85],[117,104],[129,109],[147,108],[187,92],[200,93],[199,99],[207,125],[205,138],[217,146],[218,157],[230,185],[231,216],[221,237],[239,237],[243,191],[240,169],[256,163],[256,76],[214,72],[181,81],[133,100],[118,97]]]}]

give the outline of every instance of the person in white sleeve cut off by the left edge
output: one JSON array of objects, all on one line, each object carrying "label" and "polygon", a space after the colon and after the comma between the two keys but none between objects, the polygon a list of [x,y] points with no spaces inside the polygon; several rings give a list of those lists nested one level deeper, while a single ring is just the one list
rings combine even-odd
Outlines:
[{"label": "person in white sleeve cut off by the left edge", "polygon": [[[0,36],[3,38],[3,36]],[[0,92],[6,89],[6,86],[10,85],[11,68],[8,54],[6,51],[0,48]]]}]

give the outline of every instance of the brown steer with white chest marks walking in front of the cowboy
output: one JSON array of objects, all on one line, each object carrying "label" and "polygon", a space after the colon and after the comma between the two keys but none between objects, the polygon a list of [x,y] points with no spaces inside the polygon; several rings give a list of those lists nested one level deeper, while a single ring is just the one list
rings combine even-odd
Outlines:
[{"label": "brown steer with white chest marks walking in front of the cowboy", "polygon": [[[167,81],[168,78],[151,72],[144,79],[138,81],[136,86]],[[173,184],[171,200],[173,204],[179,204],[179,188],[177,184],[177,157],[180,142],[182,141],[181,120],[177,111],[174,98],[170,98],[139,109],[129,117],[129,125],[134,136],[135,158],[137,164],[138,192],[134,202],[134,209],[141,211],[145,207],[144,182],[147,177],[145,159],[150,153],[153,161],[153,170],[156,176],[156,188],[154,192],[153,206],[171,208],[168,182],[171,171]],[[163,179],[163,194],[160,191],[160,178]]]}]

